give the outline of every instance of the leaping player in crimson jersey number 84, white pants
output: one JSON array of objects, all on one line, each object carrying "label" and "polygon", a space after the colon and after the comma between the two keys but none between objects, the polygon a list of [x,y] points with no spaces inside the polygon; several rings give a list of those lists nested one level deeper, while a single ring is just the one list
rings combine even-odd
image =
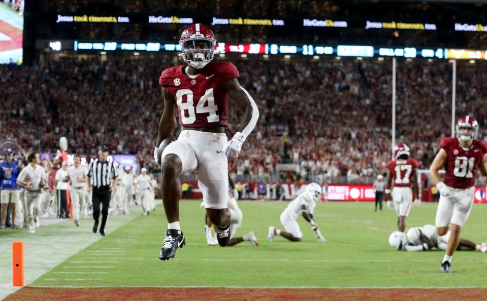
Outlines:
[{"label": "leaping player in crimson jersey number 84, white pants", "polygon": [[[173,258],[185,244],[179,224],[181,183],[178,176],[196,171],[198,186],[211,222],[218,227],[217,240],[226,246],[230,240],[228,202],[228,161],[237,157],[242,143],[258,120],[252,97],[242,88],[237,68],[230,62],[212,62],[216,39],[202,24],[192,24],[181,34],[179,55],[187,65],[165,69],[160,78],[164,112],[159,121],[154,159],[162,171],[161,194],[168,219],[168,231],[159,258]],[[228,141],[229,96],[244,112],[238,132]],[[181,133],[171,142],[179,116]]]}]

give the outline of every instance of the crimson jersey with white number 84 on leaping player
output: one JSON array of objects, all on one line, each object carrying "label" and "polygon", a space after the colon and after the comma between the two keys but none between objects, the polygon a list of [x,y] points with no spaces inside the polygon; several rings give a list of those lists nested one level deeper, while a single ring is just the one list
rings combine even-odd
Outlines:
[{"label": "crimson jersey with white number 84 on leaping player", "polygon": [[160,74],[163,86],[178,105],[179,124],[203,128],[228,125],[229,94],[225,84],[240,76],[230,62],[210,62],[203,73],[190,78],[186,65],[169,67]]}]

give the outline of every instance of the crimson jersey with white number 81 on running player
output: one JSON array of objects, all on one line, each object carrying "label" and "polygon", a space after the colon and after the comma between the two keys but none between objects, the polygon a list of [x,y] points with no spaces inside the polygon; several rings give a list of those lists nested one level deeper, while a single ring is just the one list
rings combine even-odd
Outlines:
[{"label": "crimson jersey with white number 81 on running player", "polygon": [[482,161],[487,146],[474,139],[468,150],[460,145],[458,138],[441,138],[440,147],[446,152],[445,179],[447,186],[465,189],[475,185],[477,166]]}]

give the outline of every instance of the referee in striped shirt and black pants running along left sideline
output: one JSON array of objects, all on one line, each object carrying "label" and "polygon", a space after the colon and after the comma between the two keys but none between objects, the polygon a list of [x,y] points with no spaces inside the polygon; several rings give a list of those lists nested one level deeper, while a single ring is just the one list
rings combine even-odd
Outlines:
[{"label": "referee in striped shirt and black pants running along left sideline", "polygon": [[93,190],[93,233],[98,230],[100,204],[102,204],[102,224],[100,225],[100,235],[102,236],[105,236],[110,197],[118,177],[113,162],[108,162],[107,157],[108,148],[103,145],[98,152],[98,159],[93,160],[88,167],[88,192]]}]

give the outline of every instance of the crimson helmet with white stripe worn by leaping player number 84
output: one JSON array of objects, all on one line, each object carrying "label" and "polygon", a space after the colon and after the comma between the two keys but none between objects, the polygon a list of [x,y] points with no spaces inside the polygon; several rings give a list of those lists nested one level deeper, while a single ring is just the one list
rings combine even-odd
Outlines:
[{"label": "crimson helmet with white stripe worn by leaping player number 84", "polygon": [[213,60],[216,38],[207,26],[196,23],[184,29],[179,39],[183,60],[193,68],[204,68]]}]

